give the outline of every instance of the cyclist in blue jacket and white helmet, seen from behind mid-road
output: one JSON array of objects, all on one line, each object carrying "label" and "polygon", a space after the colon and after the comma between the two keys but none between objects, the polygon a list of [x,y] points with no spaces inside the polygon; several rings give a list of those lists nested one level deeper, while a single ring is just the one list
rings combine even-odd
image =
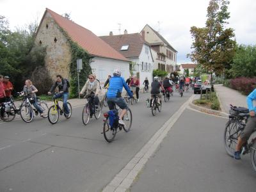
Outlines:
[{"label": "cyclist in blue jacket and white helmet, seen from behind mid-road", "polygon": [[110,110],[115,109],[115,104],[122,109],[122,112],[119,115],[119,124],[125,125],[122,118],[124,117],[128,106],[125,103],[124,99],[122,98],[123,87],[127,91],[128,95],[130,97],[133,97],[131,90],[129,89],[128,85],[125,83],[124,77],[121,77],[120,70],[115,69],[113,72],[113,77],[109,79],[107,102]]}]

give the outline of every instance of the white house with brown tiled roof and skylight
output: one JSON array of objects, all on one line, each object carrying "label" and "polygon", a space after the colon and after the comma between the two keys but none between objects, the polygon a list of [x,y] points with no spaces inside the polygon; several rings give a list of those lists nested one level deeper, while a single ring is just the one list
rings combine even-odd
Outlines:
[{"label": "white house with brown tiled roof and skylight", "polygon": [[125,30],[124,35],[109,33],[109,36],[100,36],[100,38],[125,56],[127,60],[132,61],[133,76],[139,77],[141,88],[146,77],[150,83],[152,82],[154,66],[152,50],[139,33],[127,34]]}]

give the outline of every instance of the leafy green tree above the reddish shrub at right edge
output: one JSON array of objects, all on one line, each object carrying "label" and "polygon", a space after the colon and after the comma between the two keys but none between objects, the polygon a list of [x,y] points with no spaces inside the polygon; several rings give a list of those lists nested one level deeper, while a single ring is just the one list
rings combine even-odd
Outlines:
[{"label": "leafy green tree above the reddish shrub at right edge", "polygon": [[233,78],[256,76],[256,45],[237,45],[229,70]]}]

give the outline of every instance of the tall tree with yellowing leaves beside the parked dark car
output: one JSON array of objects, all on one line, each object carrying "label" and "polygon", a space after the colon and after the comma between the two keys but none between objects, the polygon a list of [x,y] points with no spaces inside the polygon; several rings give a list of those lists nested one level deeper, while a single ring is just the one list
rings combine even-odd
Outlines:
[{"label": "tall tree with yellowing leaves beside the parked dark car", "polygon": [[202,65],[211,75],[221,74],[225,68],[230,68],[234,56],[234,29],[225,28],[230,17],[227,12],[228,4],[229,1],[226,0],[211,0],[207,8],[205,27],[193,26],[190,29],[193,51],[188,57]]}]

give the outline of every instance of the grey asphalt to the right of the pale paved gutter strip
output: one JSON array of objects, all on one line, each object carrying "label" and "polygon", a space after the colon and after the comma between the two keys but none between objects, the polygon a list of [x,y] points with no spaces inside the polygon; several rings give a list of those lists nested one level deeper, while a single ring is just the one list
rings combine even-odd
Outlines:
[{"label": "grey asphalt to the right of the pale paved gutter strip", "polygon": [[256,191],[250,155],[237,161],[225,152],[226,122],[186,109],[131,191]]}]

